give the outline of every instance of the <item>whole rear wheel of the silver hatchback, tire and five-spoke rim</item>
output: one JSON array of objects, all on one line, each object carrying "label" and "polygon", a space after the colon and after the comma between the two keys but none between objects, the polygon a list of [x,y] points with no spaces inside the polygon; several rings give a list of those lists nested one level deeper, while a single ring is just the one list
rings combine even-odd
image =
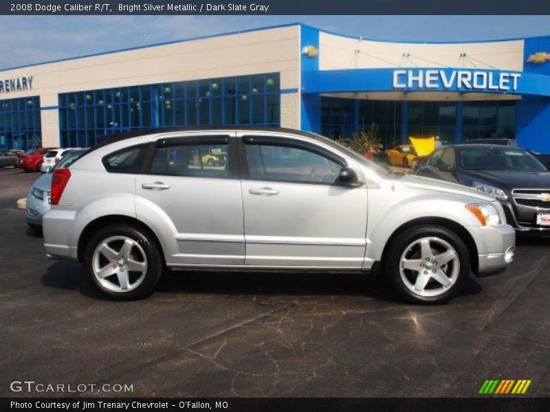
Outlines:
[{"label": "whole rear wheel of the silver hatchback, tire and five-spoke rim", "polygon": [[89,280],[118,300],[151,295],[164,269],[153,236],[129,225],[100,229],[87,243],[83,263]]}]

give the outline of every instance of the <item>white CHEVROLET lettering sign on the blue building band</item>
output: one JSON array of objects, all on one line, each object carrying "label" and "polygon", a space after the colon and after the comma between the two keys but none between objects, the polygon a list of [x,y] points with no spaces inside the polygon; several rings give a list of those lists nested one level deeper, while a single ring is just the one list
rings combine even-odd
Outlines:
[{"label": "white CHEVROLET lettering sign on the blue building band", "polygon": [[482,70],[394,70],[395,89],[517,91],[521,73]]}]

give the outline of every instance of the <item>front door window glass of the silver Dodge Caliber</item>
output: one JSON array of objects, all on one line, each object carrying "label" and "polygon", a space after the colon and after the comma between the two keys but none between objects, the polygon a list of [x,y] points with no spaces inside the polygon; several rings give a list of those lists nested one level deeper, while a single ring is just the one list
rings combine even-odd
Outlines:
[{"label": "front door window glass of the silver Dodge Caliber", "polygon": [[335,183],[342,168],[326,157],[303,148],[246,145],[250,178],[300,183]]}]

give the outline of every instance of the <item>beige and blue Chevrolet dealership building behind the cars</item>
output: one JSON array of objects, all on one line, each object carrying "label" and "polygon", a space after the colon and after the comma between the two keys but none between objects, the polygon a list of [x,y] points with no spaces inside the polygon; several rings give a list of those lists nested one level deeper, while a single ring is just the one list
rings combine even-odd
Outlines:
[{"label": "beige and blue Chevrolet dealership building behind the cars", "polygon": [[413,43],[299,23],[0,69],[0,148],[172,126],[281,126],[386,146],[505,137],[550,153],[550,36]]}]

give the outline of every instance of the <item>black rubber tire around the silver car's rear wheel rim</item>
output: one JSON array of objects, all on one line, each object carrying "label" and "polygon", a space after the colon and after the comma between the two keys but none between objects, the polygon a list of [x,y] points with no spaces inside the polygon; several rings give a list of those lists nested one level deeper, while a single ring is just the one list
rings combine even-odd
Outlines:
[{"label": "black rubber tire around the silver car's rear wheel rim", "polygon": [[[141,283],[135,288],[125,291],[113,291],[104,287],[96,275],[94,275],[94,251],[108,238],[124,236],[139,243],[146,256],[147,269]],[[98,230],[87,242],[83,254],[84,272],[91,284],[94,284],[104,295],[114,300],[135,300],[148,297],[155,291],[155,286],[164,273],[164,260],[161,251],[155,242],[153,235],[140,227],[132,225],[116,224],[103,227]]]}]

